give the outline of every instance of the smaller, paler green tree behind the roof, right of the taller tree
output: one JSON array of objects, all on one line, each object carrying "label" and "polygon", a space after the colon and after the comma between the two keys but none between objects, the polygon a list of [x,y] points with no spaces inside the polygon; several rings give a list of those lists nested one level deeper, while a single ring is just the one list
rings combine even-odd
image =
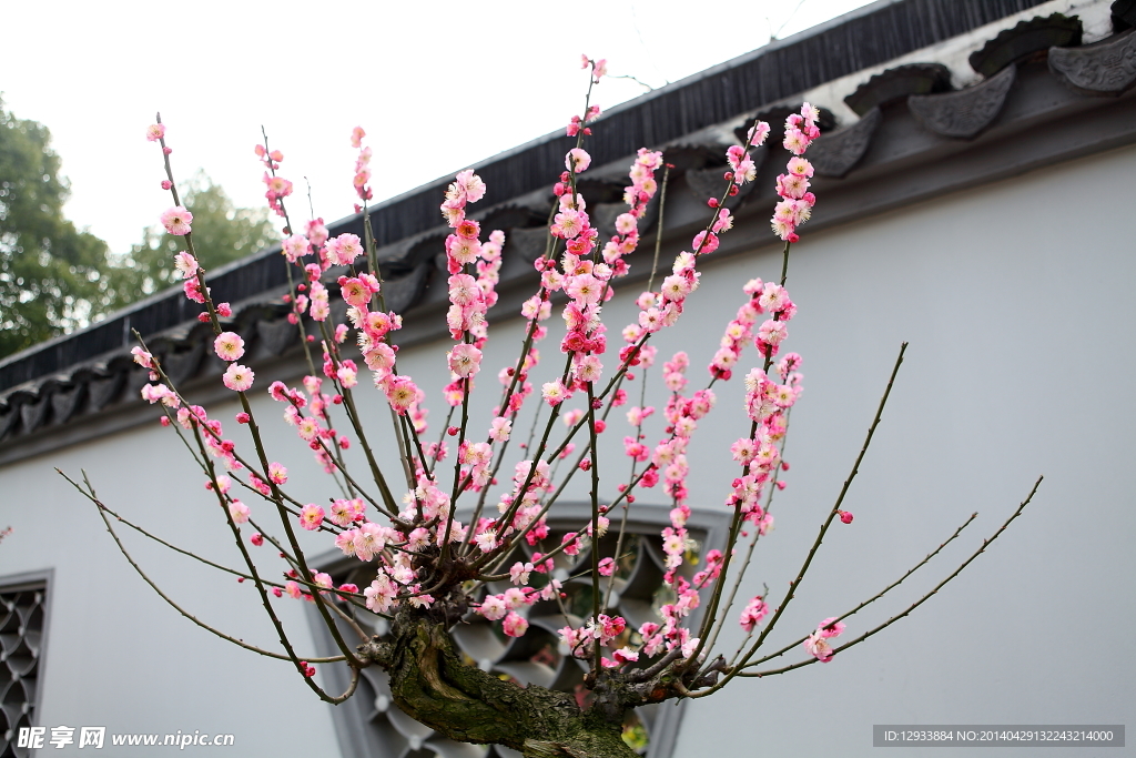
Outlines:
[{"label": "smaller, paler green tree behind the roof, right of the taller tree", "polygon": [[[220,185],[203,172],[179,191],[182,205],[193,214],[193,248],[207,272],[262,250],[277,239],[267,208],[234,208]],[[174,284],[174,256],[184,249],[184,238],[145,230],[142,242],[108,270],[103,310],[122,308]]]}]

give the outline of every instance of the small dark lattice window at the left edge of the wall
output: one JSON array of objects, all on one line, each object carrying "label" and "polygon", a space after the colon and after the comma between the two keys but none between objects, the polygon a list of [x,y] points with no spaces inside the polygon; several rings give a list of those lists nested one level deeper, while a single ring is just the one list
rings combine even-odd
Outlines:
[{"label": "small dark lattice window at the left edge of the wall", "polygon": [[47,597],[47,576],[0,582],[0,758],[30,755],[16,738],[35,723]]}]

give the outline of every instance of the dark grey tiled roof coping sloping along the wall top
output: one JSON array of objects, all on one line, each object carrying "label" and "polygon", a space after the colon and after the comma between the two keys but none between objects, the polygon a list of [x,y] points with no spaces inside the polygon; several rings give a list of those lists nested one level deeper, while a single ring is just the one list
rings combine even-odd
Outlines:
[{"label": "dark grey tiled roof coping sloping along the wall top", "polygon": [[[605,215],[610,215],[609,224],[615,218],[625,183],[613,174],[605,178],[603,166],[626,164],[637,148],[663,149],[668,163],[676,166],[671,175],[676,186],[685,184],[696,190],[708,178],[720,178],[721,152],[730,139],[730,130],[743,117],[762,111],[778,117],[777,114],[792,106],[793,97],[801,92],[964,34],[1041,2],[877,2],[818,30],[767,45],[611,109],[596,122],[595,134],[588,142],[593,166],[600,169],[590,172],[596,178],[590,181],[591,186],[584,188],[585,195],[591,198],[593,218],[600,219],[601,235]],[[1117,24],[1122,26],[1124,22],[1117,20]],[[1027,32],[1037,26],[1019,25]],[[1003,31],[997,35],[1000,44],[1006,42],[1008,35],[1012,36],[1012,32]],[[975,51],[985,49],[984,43],[989,48],[991,42],[994,40],[976,40]],[[980,139],[970,147],[960,140],[975,139],[992,124],[1037,116],[1037,108],[1029,110],[1022,105],[1016,110],[1011,105],[1016,98],[1024,102],[1021,99],[1029,97],[1030,88],[1052,84],[1026,84],[1024,77],[1029,82],[1042,78],[1051,83],[1054,80],[1063,82],[1064,89],[1058,88],[1063,93],[1059,101],[1046,106],[1052,117],[1103,108],[1086,99],[1120,94],[1136,83],[1131,64],[1136,60],[1136,32],[1121,30],[1093,44],[1060,49],[1047,55],[1047,68],[1044,63],[1047,47],[1030,49],[1030,44],[1037,48],[1042,43],[1026,41],[1024,47],[1010,53],[1002,50],[1001,63],[994,66],[997,70],[988,67],[986,78],[961,91],[946,91],[950,76],[944,76],[941,67],[936,68],[937,61],[927,61],[896,66],[871,77],[854,92],[844,93],[849,105],[862,117],[844,128],[827,131],[810,149],[809,157],[818,175],[829,177],[837,189],[842,183],[870,181],[874,165],[883,166],[896,159],[874,148],[876,141],[885,139],[882,135],[893,144],[907,145],[907,160],[918,151],[928,157],[942,157],[978,150]],[[834,107],[838,103],[818,105]],[[1103,108],[1101,113],[1111,111]],[[1130,141],[1136,135],[1117,139]],[[563,134],[557,133],[475,167],[488,186],[486,198],[479,203],[486,208],[479,214],[482,226],[503,228],[509,240],[504,250],[503,291],[510,281],[516,283],[531,276],[532,268],[525,261],[532,260],[533,250],[543,251],[543,223],[551,199],[551,182],[562,166],[566,147]],[[1028,163],[1021,161],[1022,165]],[[771,184],[778,164],[783,163],[780,157],[767,160],[754,186]],[[379,261],[387,281],[387,303],[400,313],[408,313],[408,320],[444,300],[444,295],[438,299],[437,288],[432,289],[431,283],[438,273],[436,256],[449,231],[441,224],[437,210],[449,181],[424,185],[371,209]],[[769,192],[760,189],[736,201],[737,213],[743,218],[746,206],[753,214],[759,208],[763,214],[765,206],[771,206]],[[669,233],[673,228],[669,207],[667,214]],[[676,217],[680,216],[678,213]],[[760,225],[765,226],[763,218]],[[682,224],[677,226],[680,228]],[[329,227],[333,234],[352,232],[361,236],[362,219],[350,216]],[[278,247],[209,276],[215,300],[234,305],[234,316],[227,328],[241,333],[250,344],[250,360],[270,359],[298,347],[299,332],[286,322],[286,306],[279,300],[285,284],[285,265]],[[105,322],[0,361],[0,458],[6,457],[6,449],[11,450],[28,435],[97,416],[124,403],[139,403],[137,390],[147,382],[147,376],[130,359],[132,330],[145,335],[151,350],[165,357],[164,364],[175,380],[219,373],[219,364],[214,365],[216,359],[206,349],[211,332],[195,320],[197,310],[179,289],[161,292]]]}]

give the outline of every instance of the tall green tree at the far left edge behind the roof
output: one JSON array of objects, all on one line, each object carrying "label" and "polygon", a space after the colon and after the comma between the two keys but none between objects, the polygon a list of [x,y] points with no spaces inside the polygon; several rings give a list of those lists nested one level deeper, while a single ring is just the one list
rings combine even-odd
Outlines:
[{"label": "tall green tree at the far left edge behind the roof", "polygon": [[107,244],[64,218],[50,142],[0,100],[0,357],[85,323],[105,286]]}]

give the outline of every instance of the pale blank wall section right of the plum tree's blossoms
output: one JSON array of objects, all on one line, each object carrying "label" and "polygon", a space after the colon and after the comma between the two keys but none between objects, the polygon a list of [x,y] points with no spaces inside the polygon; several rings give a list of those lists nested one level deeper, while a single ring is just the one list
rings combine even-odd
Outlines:
[{"label": "pale blank wall section right of the plum tree's blossoms", "polygon": [[[1134,176],[1129,147],[827,233],[804,228],[786,348],[804,357],[807,390],[793,410],[790,486],[750,594],[762,581],[774,598],[784,593],[900,342],[911,347],[846,501],[855,520],[830,532],[771,649],[883,589],[978,510],[910,588],[847,619],[845,636],[902,610],[1046,478],[1025,515],[912,616],[827,665],[735,682],[692,703],[676,755],[875,755],[871,726],[888,723],[1136,723],[1136,657],[1122,641],[1136,622],[1126,463],[1136,424]],[[708,268],[704,285],[772,277],[777,264],[765,249]],[[729,310],[704,307],[699,330]],[[725,442],[733,426],[715,436]],[[695,499],[720,502],[732,470],[720,460],[718,481],[695,477]],[[967,750],[987,753],[1002,755]]]}]

